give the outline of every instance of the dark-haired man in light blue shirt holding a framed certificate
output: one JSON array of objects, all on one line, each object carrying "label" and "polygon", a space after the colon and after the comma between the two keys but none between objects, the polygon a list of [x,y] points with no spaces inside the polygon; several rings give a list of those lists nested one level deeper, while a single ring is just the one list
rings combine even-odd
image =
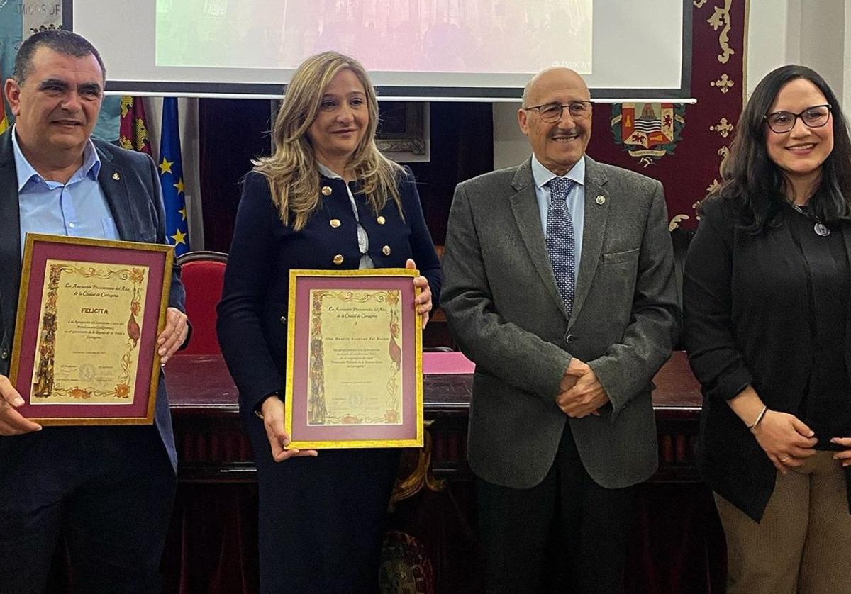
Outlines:
[{"label": "dark-haired man in light blue shirt holding a framed certificate", "polygon": [[[154,426],[27,420],[9,358],[27,232],[166,243],[156,165],[91,139],[106,71],[70,31],[20,46],[4,84],[15,123],[0,135],[0,593],[43,592],[64,538],[77,591],[156,592],[176,456],[161,378]],[[173,271],[163,363],[189,328]]]}]

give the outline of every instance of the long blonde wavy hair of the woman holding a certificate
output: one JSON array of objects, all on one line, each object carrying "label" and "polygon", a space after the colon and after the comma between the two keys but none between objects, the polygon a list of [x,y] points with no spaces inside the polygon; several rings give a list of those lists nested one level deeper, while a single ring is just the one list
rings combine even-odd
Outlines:
[{"label": "long blonde wavy hair of the woman holding a certificate", "polygon": [[402,214],[398,179],[403,168],[381,154],[375,146],[378,128],[378,97],[367,71],[357,60],[337,52],[323,52],[307,58],[294,72],[281,108],[272,126],[275,151],[271,157],[252,161],[254,171],[266,176],[271,199],[284,225],[304,229],[321,199],[319,170],[307,130],[317,117],[328,84],[340,71],[349,70],[363,84],[369,123],[363,139],[351,156],[349,167],[362,183],[363,194],[379,213],[391,197]]}]

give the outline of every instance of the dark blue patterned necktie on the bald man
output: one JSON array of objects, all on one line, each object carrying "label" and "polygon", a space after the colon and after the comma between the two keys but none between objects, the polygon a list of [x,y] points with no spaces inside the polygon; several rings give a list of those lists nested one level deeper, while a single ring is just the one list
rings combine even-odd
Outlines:
[{"label": "dark blue patterned necktie on the bald man", "polygon": [[550,254],[556,286],[570,317],[576,287],[576,238],[574,220],[568,208],[568,192],[574,181],[556,177],[547,182],[547,186],[550,186],[550,208],[546,214],[546,251]]}]

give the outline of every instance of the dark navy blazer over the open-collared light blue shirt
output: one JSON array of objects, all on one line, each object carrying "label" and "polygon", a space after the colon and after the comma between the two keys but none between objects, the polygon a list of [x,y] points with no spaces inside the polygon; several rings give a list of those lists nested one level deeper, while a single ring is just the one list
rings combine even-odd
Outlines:
[{"label": "dark navy blazer over the open-collared light blue shirt", "polygon": [[[0,374],[3,375],[9,374],[21,264],[18,176],[12,134],[12,129],[0,134]],[[101,163],[98,182],[115,220],[118,237],[132,242],[167,243],[159,176],[151,157],[101,140],[93,141]],[[183,311],[186,293],[180,283],[180,269],[175,266],[172,274],[168,306]],[[155,423],[168,458],[176,468],[177,455],[162,374],[157,388]]]}]

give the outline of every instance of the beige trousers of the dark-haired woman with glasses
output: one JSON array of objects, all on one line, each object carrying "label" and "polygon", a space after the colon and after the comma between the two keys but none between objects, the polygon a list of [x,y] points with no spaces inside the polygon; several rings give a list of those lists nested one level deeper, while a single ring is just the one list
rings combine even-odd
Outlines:
[{"label": "beige trousers of the dark-haired woman with glasses", "polygon": [[777,473],[762,522],[715,494],[727,594],[851,594],[851,515],[842,465],[818,451]]}]

